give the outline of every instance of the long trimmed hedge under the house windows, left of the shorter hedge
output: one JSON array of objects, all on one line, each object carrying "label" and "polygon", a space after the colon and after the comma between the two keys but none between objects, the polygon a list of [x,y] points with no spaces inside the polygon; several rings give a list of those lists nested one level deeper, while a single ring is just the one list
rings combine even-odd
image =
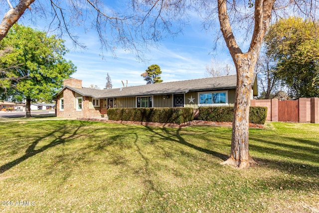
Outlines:
[{"label": "long trimmed hedge under the house windows, left of the shorter hedge", "polygon": [[193,108],[112,108],[107,111],[110,120],[182,124],[194,120]]}]

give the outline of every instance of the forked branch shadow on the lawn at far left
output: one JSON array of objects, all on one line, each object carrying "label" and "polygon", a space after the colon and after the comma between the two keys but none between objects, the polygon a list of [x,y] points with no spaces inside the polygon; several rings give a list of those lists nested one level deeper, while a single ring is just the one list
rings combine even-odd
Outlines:
[{"label": "forked branch shadow on the lawn at far left", "polygon": [[[75,128],[73,130],[73,133],[71,135],[69,135],[68,137],[65,137],[66,134],[69,134],[69,129],[67,128],[66,125],[58,125],[58,128],[54,129],[54,131],[49,131],[47,134],[45,134],[42,137],[39,137],[38,139],[33,141],[32,144],[29,145],[29,147],[26,149],[25,154],[23,156],[0,166],[0,174],[4,173],[5,171],[8,171],[12,167],[20,164],[21,162],[29,159],[32,156],[35,156],[39,153],[42,153],[43,151],[45,151],[49,148],[63,144],[65,142],[67,142],[68,140],[74,139],[74,137],[78,134],[78,131],[80,130],[80,128],[82,126],[83,126],[83,124],[81,123],[81,125],[79,125],[77,128]],[[55,136],[55,134],[57,132],[58,133],[61,132],[62,134],[59,134],[59,136]],[[39,149],[35,149],[36,145],[47,137],[55,137],[55,138],[49,144],[47,144]],[[80,136],[77,136],[77,137],[80,137]]]}]

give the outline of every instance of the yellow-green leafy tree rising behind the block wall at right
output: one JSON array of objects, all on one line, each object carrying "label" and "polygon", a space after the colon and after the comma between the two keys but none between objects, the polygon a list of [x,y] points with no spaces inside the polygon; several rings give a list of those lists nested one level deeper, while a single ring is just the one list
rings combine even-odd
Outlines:
[{"label": "yellow-green leafy tree rising behind the block wall at right", "polygon": [[319,96],[319,23],[290,17],[271,25],[267,55],[277,61],[276,75],[292,98]]}]

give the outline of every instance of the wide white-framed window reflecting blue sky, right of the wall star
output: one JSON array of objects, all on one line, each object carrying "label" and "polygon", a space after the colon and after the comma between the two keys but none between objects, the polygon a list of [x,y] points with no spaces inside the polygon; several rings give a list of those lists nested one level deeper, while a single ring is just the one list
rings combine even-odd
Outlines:
[{"label": "wide white-framed window reflecting blue sky, right of the wall star", "polygon": [[199,105],[226,105],[228,102],[227,92],[203,92],[199,93]]}]

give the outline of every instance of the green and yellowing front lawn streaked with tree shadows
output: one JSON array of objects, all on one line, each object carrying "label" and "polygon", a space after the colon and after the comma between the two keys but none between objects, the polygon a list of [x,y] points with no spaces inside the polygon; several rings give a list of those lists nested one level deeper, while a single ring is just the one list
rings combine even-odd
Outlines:
[{"label": "green and yellowing front lawn streaked with tree shadows", "polygon": [[224,127],[15,121],[0,135],[1,213],[319,212],[318,124],[250,129],[248,170],[220,165]]}]

